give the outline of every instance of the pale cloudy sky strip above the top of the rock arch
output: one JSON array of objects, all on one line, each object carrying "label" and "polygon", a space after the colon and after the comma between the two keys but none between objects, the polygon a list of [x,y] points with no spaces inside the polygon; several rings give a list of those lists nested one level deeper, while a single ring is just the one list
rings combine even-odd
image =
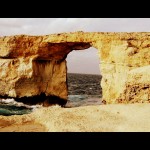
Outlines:
[{"label": "pale cloudy sky strip above the top of the rock arch", "polygon": [[150,18],[0,18],[0,35],[61,32],[149,32]]}]

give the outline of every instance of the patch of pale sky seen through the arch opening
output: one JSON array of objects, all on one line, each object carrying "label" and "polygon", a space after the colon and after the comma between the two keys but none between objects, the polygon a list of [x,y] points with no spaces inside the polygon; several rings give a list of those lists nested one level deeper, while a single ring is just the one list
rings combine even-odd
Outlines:
[{"label": "patch of pale sky seen through the arch opening", "polygon": [[67,56],[68,72],[100,74],[100,60],[98,50],[89,48],[86,50],[74,50]]}]

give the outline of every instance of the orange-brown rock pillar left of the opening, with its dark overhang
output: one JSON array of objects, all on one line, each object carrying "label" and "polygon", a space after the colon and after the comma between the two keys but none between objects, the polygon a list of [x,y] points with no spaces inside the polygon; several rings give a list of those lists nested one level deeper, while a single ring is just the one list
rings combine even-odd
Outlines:
[{"label": "orange-brown rock pillar left of the opening, with its dark overhang", "polygon": [[0,42],[0,96],[17,99],[45,94],[67,101],[67,54],[90,47],[29,36],[4,37]]}]

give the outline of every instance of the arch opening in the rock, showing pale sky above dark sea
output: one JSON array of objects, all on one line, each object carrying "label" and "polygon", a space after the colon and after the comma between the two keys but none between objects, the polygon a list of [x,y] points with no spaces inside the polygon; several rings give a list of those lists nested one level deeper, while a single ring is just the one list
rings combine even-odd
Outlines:
[{"label": "arch opening in the rock, showing pale sky above dark sea", "polygon": [[66,107],[99,105],[102,99],[98,50],[74,50],[67,56],[68,101]]}]

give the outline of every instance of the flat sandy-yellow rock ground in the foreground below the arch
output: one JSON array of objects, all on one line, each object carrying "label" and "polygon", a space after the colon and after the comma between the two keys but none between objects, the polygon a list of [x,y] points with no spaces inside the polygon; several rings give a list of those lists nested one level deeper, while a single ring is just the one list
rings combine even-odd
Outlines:
[{"label": "flat sandy-yellow rock ground in the foreground below the arch", "polygon": [[150,104],[38,108],[0,116],[0,132],[149,132]]}]

